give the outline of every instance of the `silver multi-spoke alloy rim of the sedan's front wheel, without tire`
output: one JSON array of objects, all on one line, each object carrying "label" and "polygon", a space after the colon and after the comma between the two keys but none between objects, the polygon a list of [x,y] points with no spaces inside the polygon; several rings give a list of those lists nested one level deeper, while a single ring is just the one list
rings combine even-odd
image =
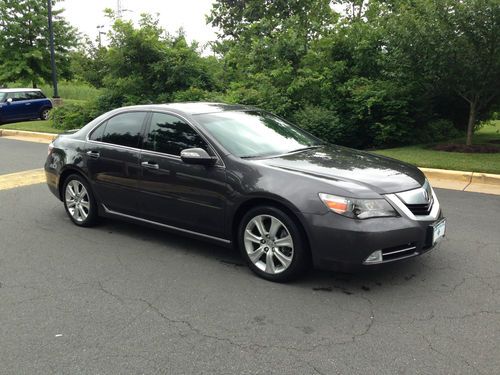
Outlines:
[{"label": "silver multi-spoke alloy rim of the sedan's front wheel, without tire", "polygon": [[258,215],[251,219],[245,228],[244,244],[252,263],[267,274],[281,273],[292,263],[292,236],[274,216]]}]

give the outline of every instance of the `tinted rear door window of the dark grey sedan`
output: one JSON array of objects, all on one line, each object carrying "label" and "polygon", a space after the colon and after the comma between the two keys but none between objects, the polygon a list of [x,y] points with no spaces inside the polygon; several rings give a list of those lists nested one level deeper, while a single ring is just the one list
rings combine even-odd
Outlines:
[{"label": "tinted rear door window of the dark grey sedan", "polygon": [[145,112],[128,112],[110,118],[105,124],[101,141],[121,146],[138,147],[145,117]]}]

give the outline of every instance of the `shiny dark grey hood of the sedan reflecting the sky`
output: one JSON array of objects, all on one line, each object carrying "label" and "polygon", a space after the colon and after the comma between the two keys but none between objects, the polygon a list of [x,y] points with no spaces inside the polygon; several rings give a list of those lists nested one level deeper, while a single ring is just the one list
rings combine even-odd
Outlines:
[{"label": "shiny dark grey hood of the sedan reflecting the sky", "polygon": [[260,159],[258,163],[312,177],[347,182],[347,186],[362,185],[378,194],[416,189],[425,181],[424,174],[410,164],[341,146],[322,146]]}]

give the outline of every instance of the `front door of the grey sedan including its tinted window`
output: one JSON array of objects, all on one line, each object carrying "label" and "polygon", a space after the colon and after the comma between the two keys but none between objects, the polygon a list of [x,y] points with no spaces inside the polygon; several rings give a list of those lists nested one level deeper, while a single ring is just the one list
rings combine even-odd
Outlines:
[{"label": "front door of the grey sedan including its tinted window", "polygon": [[224,236],[225,168],[192,165],[181,150],[200,147],[214,155],[205,140],[179,117],[153,113],[141,152],[141,216],[207,234]]}]

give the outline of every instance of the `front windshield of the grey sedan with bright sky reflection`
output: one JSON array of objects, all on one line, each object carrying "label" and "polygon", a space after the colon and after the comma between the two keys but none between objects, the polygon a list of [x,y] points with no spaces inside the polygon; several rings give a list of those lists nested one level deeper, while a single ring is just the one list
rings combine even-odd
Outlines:
[{"label": "front windshield of the grey sedan with bright sky reflection", "polygon": [[194,116],[230,153],[242,158],[287,154],[323,142],[261,111],[218,112]]}]

